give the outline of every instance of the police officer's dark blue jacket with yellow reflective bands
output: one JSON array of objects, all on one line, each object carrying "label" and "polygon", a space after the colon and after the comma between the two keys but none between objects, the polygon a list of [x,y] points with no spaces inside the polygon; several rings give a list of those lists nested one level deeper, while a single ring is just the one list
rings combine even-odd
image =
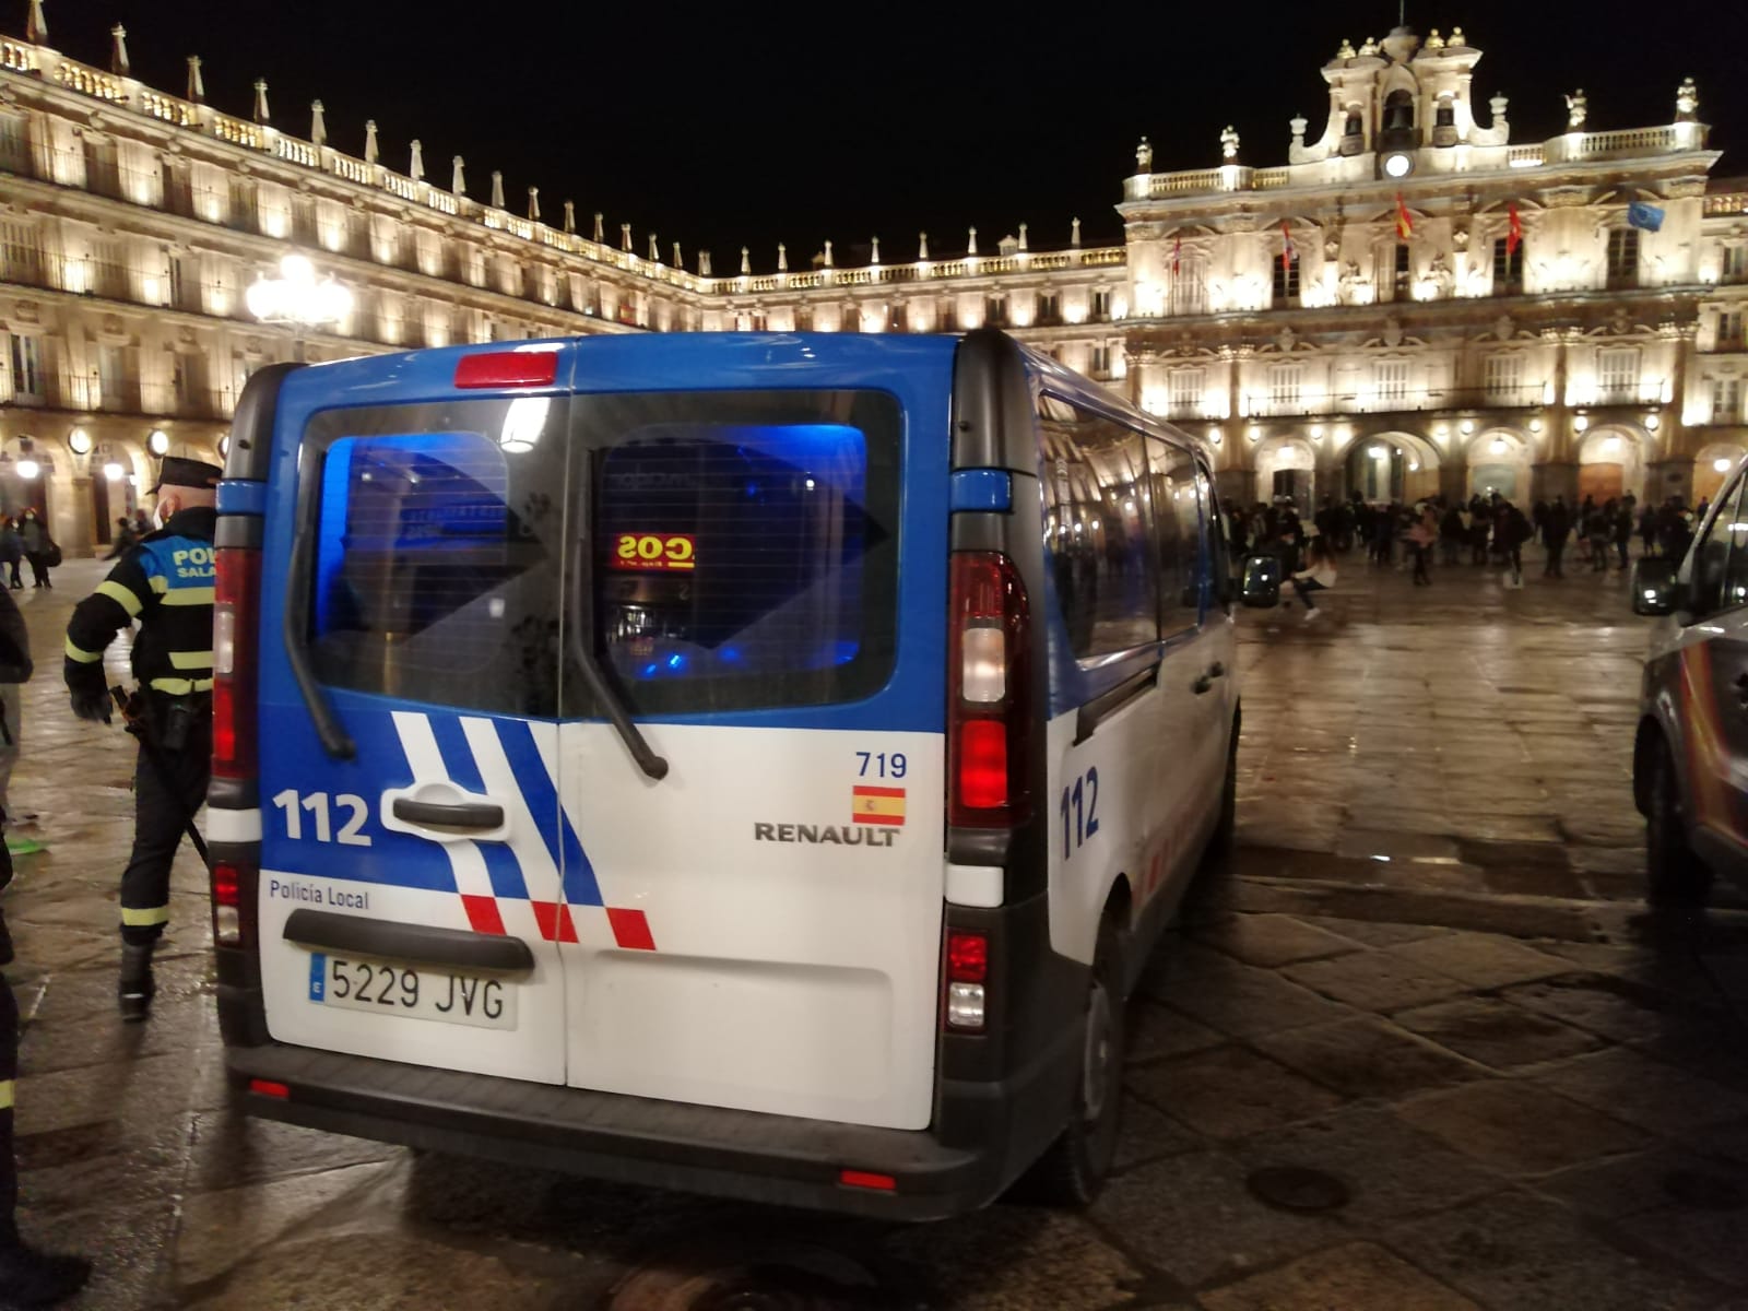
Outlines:
[{"label": "police officer's dark blue jacket with yellow reflective bands", "polygon": [[210,505],[178,510],[140,540],[66,624],[66,685],[101,696],[103,649],[135,619],[133,675],[166,696],[213,685],[213,530]]}]

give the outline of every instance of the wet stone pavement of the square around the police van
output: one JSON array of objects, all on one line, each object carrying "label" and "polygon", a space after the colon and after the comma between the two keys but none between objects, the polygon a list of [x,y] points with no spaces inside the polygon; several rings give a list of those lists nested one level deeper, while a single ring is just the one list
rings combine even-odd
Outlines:
[{"label": "wet stone pavement of the square around the police van", "polygon": [[1117,1178],[879,1227],[231,1115],[192,855],[154,1019],[114,1014],[129,752],[59,694],[68,565],[24,594],[23,1224],[93,1309],[1748,1308],[1748,914],[1643,912],[1645,628],[1535,572],[1246,614],[1236,879],[1133,1003]]}]

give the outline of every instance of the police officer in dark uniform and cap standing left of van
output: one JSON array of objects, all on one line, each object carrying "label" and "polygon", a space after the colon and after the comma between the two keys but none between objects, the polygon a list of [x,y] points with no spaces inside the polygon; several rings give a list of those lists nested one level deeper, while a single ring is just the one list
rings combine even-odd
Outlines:
[{"label": "police officer in dark uniform and cap standing left of van", "polygon": [[170,865],[206,797],[212,757],[213,528],[217,465],[168,456],[157,531],[147,533],[82,600],[66,626],[66,687],[79,718],[110,720],[103,649],[129,622],[143,699],[133,769],[133,857],[121,877],[121,1016],[152,1009],[152,949],[170,923]]}]

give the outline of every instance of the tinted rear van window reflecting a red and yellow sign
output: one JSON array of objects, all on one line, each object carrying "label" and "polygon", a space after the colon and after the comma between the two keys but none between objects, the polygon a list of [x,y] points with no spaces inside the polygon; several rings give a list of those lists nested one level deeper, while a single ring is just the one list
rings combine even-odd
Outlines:
[{"label": "tinted rear van window reflecting a red and yellow sign", "polygon": [[891,673],[898,406],[579,397],[594,642],[636,711],[850,701]]}]

